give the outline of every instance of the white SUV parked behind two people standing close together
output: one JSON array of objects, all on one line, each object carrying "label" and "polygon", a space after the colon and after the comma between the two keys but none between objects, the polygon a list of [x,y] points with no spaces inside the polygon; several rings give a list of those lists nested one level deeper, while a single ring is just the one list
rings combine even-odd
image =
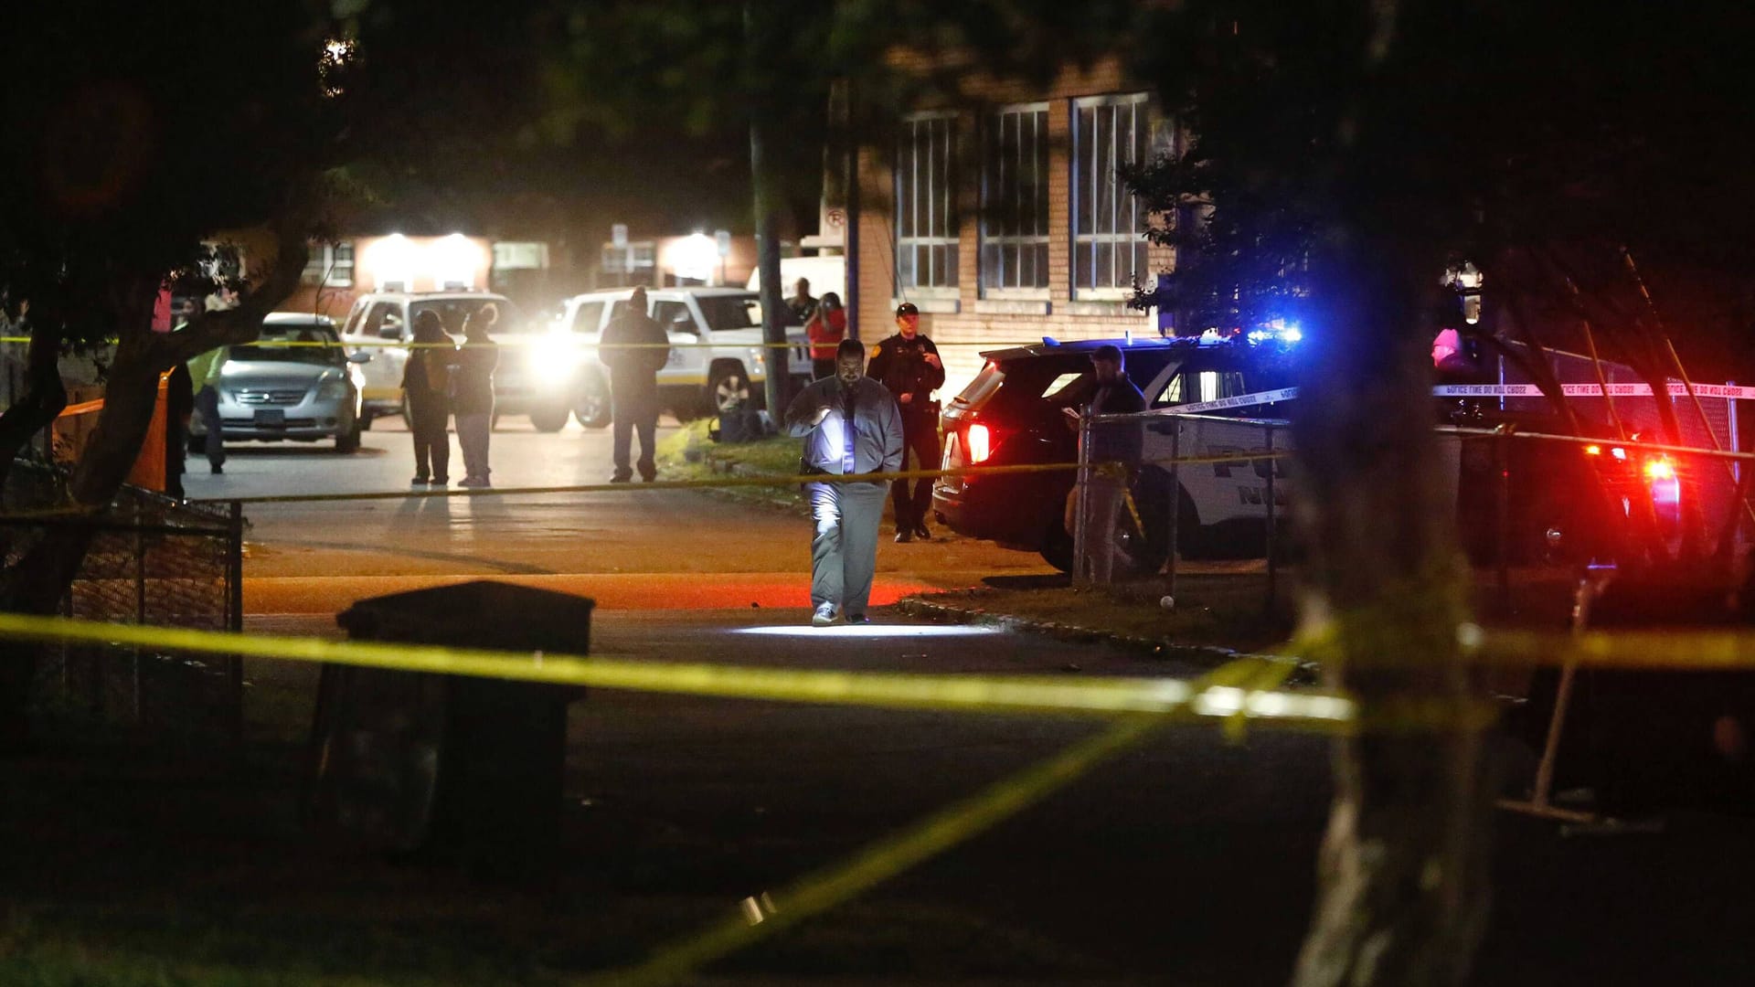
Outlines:
[{"label": "white SUV parked behind two people standing close together", "polygon": [[[530,353],[519,342],[530,341],[532,325],[518,313],[505,295],[491,292],[372,292],[360,295],[342,323],[340,341],[349,346],[349,353],[370,353],[365,364],[363,411],[365,425],[377,414],[402,413],[402,369],[409,362],[405,346],[360,346],[362,342],[402,342],[414,339],[414,318],[423,311],[433,311],[444,321],[444,330],[462,342],[463,321],[488,302],[500,309],[500,318],[490,335],[495,342],[511,342],[500,349],[498,367],[493,371],[493,413],[530,414],[530,420],[542,429],[546,406],[542,393],[534,386],[530,374]],[[560,423],[567,421],[567,406],[560,406]]]}]

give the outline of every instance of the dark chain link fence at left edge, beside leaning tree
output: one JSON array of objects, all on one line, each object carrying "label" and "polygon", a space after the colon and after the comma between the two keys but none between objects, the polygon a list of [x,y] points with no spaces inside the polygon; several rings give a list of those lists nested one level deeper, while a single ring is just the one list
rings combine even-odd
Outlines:
[{"label": "dark chain link fence at left edge, beside leaning tree", "polygon": [[[60,613],[107,623],[242,630],[242,532],[237,504],[186,504],[125,486],[100,513],[56,513],[65,472],[18,462],[5,485],[0,546],[7,567],[54,537],[86,537]],[[191,738],[237,736],[237,655],[54,645],[39,652],[32,690],[47,734],[133,729]]]}]

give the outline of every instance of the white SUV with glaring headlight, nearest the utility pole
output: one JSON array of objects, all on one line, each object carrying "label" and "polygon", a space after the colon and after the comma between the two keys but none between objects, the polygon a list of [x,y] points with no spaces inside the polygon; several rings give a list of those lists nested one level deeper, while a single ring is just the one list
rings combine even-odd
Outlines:
[{"label": "white SUV with glaring headlight, nearest the utility pole", "polygon": [[[579,423],[602,429],[609,423],[609,386],[593,346],[627,302],[632,288],[574,295],[549,327],[549,339],[534,346],[548,349],[541,365],[551,376],[569,376],[577,399]],[[670,360],[658,371],[658,390],[679,416],[693,411],[718,413],[739,404],[758,407],[767,379],[767,349],[762,346],[762,306],[744,288],[648,288],[648,314],[670,337]],[[786,313],[792,321],[792,313]],[[786,369],[795,381],[809,383],[811,355],[804,328],[786,327]],[[570,357],[569,357],[570,355]]]}]

